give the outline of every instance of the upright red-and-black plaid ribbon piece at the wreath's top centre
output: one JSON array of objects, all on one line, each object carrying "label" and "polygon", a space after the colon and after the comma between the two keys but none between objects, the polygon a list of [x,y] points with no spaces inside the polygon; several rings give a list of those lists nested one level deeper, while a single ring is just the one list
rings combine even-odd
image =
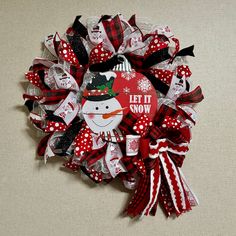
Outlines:
[{"label": "upright red-and-black plaid ribbon piece at the wreath's top centre", "polygon": [[112,19],[102,21],[108,39],[113,45],[115,51],[118,51],[123,43],[124,35],[119,15]]}]

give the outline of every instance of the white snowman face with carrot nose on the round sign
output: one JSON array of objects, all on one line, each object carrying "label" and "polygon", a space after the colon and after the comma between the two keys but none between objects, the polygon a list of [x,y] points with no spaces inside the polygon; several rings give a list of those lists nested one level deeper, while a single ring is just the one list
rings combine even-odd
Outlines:
[{"label": "white snowman face with carrot nose on the round sign", "polygon": [[122,107],[116,98],[105,101],[86,101],[82,108],[84,119],[94,133],[112,131],[123,118]]}]

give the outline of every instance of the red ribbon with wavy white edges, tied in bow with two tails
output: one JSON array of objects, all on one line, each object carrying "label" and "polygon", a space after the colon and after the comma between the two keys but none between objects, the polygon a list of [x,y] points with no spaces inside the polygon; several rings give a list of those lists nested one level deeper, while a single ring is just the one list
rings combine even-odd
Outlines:
[{"label": "red ribbon with wavy white edges, tied in bow with two tails", "polygon": [[[149,157],[152,159],[158,158],[159,164],[150,171],[150,197],[141,217],[149,215],[157,201],[161,185],[160,167],[163,169],[176,213],[179,215],[188,210],[188,199],[186,199],[187,196],[182,176],[174,162],[169,157],[168,152],[184,155],[188,151],[188,143],[175,144],[167,139],[158,139],[155,144],[150,144],[149,147]],[[190,189],[189,192],[191,192]]]}]

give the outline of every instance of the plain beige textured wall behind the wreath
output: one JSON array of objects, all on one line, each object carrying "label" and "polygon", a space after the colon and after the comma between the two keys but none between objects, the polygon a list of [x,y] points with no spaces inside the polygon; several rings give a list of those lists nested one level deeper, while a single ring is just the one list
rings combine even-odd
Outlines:
[{"label": "plain beige textured wall behind the wreath", "polygon": [[[0,235],[236,235],[235,228],[235,8],[236,2],[0,1]],[[22,81],[44,36],[64,32],[74,17],[123,13],[168,24],[195,44],[192,80],[205,100],[183,171],[200,206],[176,220],[160,209],[136,222],[119,214],[129,193],[118,183],[96,187],[78,175],[35,159],[38,142],[22,109]]]}]

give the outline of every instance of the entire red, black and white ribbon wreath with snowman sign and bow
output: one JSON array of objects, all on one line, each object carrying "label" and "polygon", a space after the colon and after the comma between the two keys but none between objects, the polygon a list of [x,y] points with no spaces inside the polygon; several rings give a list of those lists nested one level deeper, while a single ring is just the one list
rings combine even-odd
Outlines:
[{"label": "entire red, black and white ribbon wreath with snowman sign and bow", "polygon": [[29,119],[46,134],[37,154],[95,183],[118,177],[134,191],[131,217],[155,215],[158,203],[167,216],[191,210],[198,200],[180,168],[203,99],[186,61],[193,46],[135,15],[80,18],[45,38],[25,74]]}]

